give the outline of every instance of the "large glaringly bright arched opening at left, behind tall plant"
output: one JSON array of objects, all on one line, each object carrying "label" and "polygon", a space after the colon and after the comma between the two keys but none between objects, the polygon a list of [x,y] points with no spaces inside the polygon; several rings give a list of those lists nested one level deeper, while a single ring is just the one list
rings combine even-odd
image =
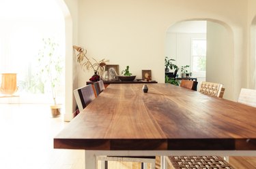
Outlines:
[{"label": "large glaringly bright arched opening at left, behind tall plant", "polygon": [[[16,5],[13,5],[15,3]],[[29,4],[29,5],[27,5]],[[10,10],[12,9],[12,10]],[[15,10],[15,12],[13,12]],[[56,55],[61,58],[58,63],[63,71],[58,75],[57,103],[66,102],[66,18],[69,12],[63,0],[46,1],[4,1],[1,2],[0,28],[0,64],[1,72],[16,72],[20,103],[52,103],[50,85],[46,75],[45,81],[39,79],[38,60],[45,48],[42,39],[55,43]],[[69,22],[70,24],[70,22]],[[70,26],[70,25],[68,25]],[[72,43],[70,40],[68,43]],[[72,46],[70,44],[70,46]],[[53,48],[51,49],[53,50]],[[55,53],[53,51],[45,51]],[[41,62],[42,63],[42,62]],[[47,63],[44,65],[47,67]],[[45,70],[44,70],[45,71]],[[53,76],[53,72],[50,73]],[[70,78],[71,79],[71,78]],[[56,84],[55,84],[56,85]],[[72,89],[71,89],[72,90]],[[44,94],[42,94],[42,91]],[[1,100],[4,102],[4,100]],[[14,100],[15,102],[16,100]],[[72,105],[72,104],[70,104]],[[72,106],[71,106],[72,107]],[[66,108],[65,108],[66,109]],[[65,112],[65,111],[64,111]]]}]

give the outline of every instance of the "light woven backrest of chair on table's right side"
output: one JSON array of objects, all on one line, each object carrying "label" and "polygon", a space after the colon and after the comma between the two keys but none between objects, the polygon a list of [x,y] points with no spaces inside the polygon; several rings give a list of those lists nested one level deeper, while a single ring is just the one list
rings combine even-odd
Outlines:
[{"label": "light woven backrest of chair on table's right side", "polygon": [[208,81],[202,81],[198,92],[223,98],[225,88],[223,88],[223,84],[221,83],[212,83]]}]

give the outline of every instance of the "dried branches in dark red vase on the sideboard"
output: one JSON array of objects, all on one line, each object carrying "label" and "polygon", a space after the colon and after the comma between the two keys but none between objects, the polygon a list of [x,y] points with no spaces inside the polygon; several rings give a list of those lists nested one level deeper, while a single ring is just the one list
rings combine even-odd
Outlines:
[{"label": "dried branches in dark red vase on the sideboard", "polygon": [[[104,67],[106,66],[106,62],[109,62],[109,60],[105,60],[102,59],[100,61],[97,61],[95,58],[92,58],[94,60],[94,62],[91,62],[91,60],[89,60],[89,58],[86,56],[87,54],[87,50],[84,50],[82,47],[73,45],[73,48],[79,52],[79,54],[77,54],[77,62],[79,62],[81,64],[82,67],[85,67],[87,70],[89,70],[89,68],[94,70],[94,75],[91,77],[91,81],[99,81],[100,80],[100,76],[98,75],[98,71],[100,71],[100,73],[102,73],[104,71]],[[84,61],[85,58],[85,61]]]}]

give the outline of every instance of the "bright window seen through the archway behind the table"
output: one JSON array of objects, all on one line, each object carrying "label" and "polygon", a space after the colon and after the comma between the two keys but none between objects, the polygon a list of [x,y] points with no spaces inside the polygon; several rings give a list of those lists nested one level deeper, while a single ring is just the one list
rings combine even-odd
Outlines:
[{"label": "bright window seen through the archway behind the table", "polygon": [[192,71],[205,77],[206,39],[192,39],[191,48]]}]

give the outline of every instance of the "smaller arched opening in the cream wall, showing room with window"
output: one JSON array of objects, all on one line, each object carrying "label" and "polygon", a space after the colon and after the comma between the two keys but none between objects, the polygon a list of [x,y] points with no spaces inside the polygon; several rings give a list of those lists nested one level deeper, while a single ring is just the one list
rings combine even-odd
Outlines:
[{"label": "smaller arched opening in the cream wall, showing room with window", "polygon": [[223,83],[225,98],[233,100],[233,36],[227,24],[212,19],[177,22],[167,31],[165,48],[177,67],[189,65],[188,73],[199,83]]}]

